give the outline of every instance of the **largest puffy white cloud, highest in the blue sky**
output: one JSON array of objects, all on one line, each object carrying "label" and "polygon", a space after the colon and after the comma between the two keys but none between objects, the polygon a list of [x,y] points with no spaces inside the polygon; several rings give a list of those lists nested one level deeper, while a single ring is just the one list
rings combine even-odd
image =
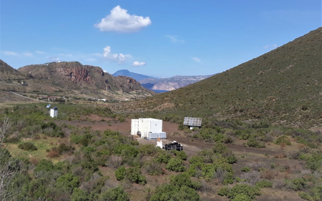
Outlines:
[{"label": "largest puffy white cloud, highest in the blue sky", "polygon": [[130,15],[128,11],[119,5],[111,10],[111,13],[94,26],[101,32],[137,32],[151,24],[149,17]]}]

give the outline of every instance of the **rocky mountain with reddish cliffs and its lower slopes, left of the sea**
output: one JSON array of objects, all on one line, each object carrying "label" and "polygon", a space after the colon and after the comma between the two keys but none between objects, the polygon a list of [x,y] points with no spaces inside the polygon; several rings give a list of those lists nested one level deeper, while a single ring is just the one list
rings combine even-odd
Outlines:
[{"label": "rocky mountain with reddish cliffs and its lower slopes, left of the sea", "polygon": [[28,75],[28,87],[24,90],[46,92],[74,92],[94,97],[122,100],[142,98],[155,93],[142,87],[127,76],[114,77],[100,67],[82,65],[80,62],[52,62],[29,65],[18,69],[19,74]]}]

